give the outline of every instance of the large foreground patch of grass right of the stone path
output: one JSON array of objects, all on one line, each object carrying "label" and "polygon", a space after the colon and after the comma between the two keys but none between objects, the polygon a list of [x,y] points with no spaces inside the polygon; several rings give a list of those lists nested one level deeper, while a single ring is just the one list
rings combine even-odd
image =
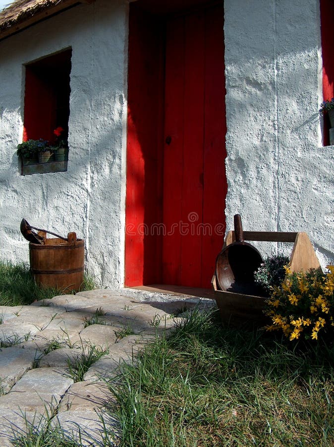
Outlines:
[{"label": "large foreground patch of grass right of the stone path", "polygon": [[333,347],[192,312],[109,386],[121,446],[333,446]]}]

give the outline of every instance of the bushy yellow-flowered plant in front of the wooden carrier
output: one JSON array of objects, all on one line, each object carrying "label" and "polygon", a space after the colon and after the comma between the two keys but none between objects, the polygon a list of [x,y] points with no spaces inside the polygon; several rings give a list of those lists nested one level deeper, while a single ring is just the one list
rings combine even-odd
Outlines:
[{"label": "bushy yellow-flowered plant in front of the wooden carrier", "polygon": [[326,274],[317,270],[291,273],[284,268],[283,283],[267,300],[265,313],[272,324],[266,329],[281,330],[289,340],[297,340],[301,334],[318,340],[322,329],[334,332],[334,265],[327,266]]}]

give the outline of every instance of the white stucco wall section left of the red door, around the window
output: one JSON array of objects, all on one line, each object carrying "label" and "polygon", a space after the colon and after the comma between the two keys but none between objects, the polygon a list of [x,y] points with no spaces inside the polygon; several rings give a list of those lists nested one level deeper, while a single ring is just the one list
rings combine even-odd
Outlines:
[{"label": "white stucco wall section left of the red door, around the window", "polygon": [[[0,256],[28,261],[19,224],[86,240],[86,266],[123,285],[127,2],[79,5],[0,42]],[[23,64],[72,48],[69,161],[64,173],[19,175]]]}]

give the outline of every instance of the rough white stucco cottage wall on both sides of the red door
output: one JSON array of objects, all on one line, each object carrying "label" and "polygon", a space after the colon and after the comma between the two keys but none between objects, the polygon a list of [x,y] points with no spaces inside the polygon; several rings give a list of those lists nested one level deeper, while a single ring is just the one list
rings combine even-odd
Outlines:
[{"label": "rough white stucco cottage wall on both sides of the red door", "polygon": [[[110,287],[124,281],[126,3],[80,4],[0,43],[0,256],[28,260],[23,217],[76,231],[89,271]],[[307,231],[325,266],[334,261],[334,151],[322,146],[318,113],[319,1],[225,0],[224,10],[227,229],[240,213],[244,229]],[[23,64],[69,47],[68,170],[21,176]]]}]

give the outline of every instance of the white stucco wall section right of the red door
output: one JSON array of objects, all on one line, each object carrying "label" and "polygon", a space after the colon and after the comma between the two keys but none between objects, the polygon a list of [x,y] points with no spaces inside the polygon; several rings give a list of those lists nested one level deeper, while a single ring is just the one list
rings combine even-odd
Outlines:
[{"label": "white stucco wall section right of the red door", "polygon": [[319,0],[225,0],[224,9],[227,228],[240,213],[245,230],[306,231],[325,267],[334,148],[321,144]]}]

